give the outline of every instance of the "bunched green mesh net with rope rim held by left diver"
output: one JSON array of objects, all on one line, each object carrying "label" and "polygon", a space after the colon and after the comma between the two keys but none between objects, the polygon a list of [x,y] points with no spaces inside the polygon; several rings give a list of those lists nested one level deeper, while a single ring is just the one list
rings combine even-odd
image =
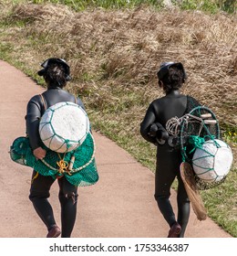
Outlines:
[{"label": "bunched green mesh net with rope rim held by left diver", "polygon": [[43,160],[36,160],[27,137],[19,137],[12,144],[10,155],[16,163],[33,167],[43,176],[66,176],[75,186],[89,186],[98,181],[95,143],[91,133],[76,150],[66,154],[46,149]]}]

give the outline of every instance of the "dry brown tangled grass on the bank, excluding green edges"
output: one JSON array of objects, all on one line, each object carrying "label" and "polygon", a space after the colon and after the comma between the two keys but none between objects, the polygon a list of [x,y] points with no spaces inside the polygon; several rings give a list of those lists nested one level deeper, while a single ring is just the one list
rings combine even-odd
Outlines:
[{"label": "dry brown tangled grass on the bank, excluding green edges", "polygon": [[18,37],[18,59],[34,71],[48,57],[67,59],[74,77],[69,90],[118,135],[139,136],[149,102],[162,95],[156,70],[167,60],[186,67],[185,93],[236,126],[236,16],[144,7],[75,13],[65,5],[28,4],[13,8],[10,20],[26,22],[8,31],[9,40]]}]

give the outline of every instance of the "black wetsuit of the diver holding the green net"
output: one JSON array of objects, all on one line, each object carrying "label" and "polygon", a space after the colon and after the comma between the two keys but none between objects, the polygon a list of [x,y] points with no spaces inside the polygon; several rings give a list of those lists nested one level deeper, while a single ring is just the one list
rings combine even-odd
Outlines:
[{"label": "black wetsuit of the diver holding the green net", "polygon": [[[77,104],[84,108],[80,99],[75,99],[75,96],[60,88],[48,89],[43,93],[43,97],[46,101],[46,108],[62,101],[77,101]],[[42,146],[38,126],[40,117],[46,111],[46,108],[40,95],[34,96],[27,104],[26,133],[29,136],[32,150]],[[33,202],[38,216],[44,221],[47,229],[49,230],[56,225],[53,209],[47,200],[49,197],[49,189],[55,179],[51,176],[41,176],[39,174],[36,179],[34,179],[35,176],[36,171],[33,171],[29,198]],[[58,178],[58,185],[58,197],[61,205],[61,236],[68,238],[71,235],[76,220],[77,187],[71,185],[64,176]]]}]

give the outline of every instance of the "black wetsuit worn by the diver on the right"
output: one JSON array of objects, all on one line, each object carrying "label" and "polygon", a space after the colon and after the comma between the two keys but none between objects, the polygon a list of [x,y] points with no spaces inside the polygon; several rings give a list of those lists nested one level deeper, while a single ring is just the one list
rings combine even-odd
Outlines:
[{"label": "black wetsuit worn by the diver on the right", "polygon": [[[190,216],[190,200],[180,178],[180,163],[182,161],[180,148],[169,143],[166,136],[166,123],[172,117],[181,117],[193,107],[200,105],[190,96],[180,94],[180,91],[170,91],[166,96],[152,101],[144,120],[140,124],[140,133],[145,140],[157,145],[157,165],[155,175],[155,199],[158,202],[160,212],[169,223],[170,227],[176,222],[175,214],[170,204],[170,187],[175,177],[179,181],[178,186],[178,219],[181,226],[180,237],[183,237]],[[156,137],[150,136],[150,126],[153,123],[162,125],[165,143],[159,144]],[[168,134],[168,133],[167,133]],[[169,134],[168,134],[169,136]]]}]

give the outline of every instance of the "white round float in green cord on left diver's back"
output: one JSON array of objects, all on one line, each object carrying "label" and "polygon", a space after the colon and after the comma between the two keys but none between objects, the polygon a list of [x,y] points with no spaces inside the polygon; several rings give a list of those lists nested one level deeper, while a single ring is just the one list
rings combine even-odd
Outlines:
[{"label": "white round float in green cord on left diver's back", "polygon": [[42,142],[58,153],[75,150],[83,144],[88,132],[88,115],[73,102],[59,102],[49,107],[39,123]]}]

